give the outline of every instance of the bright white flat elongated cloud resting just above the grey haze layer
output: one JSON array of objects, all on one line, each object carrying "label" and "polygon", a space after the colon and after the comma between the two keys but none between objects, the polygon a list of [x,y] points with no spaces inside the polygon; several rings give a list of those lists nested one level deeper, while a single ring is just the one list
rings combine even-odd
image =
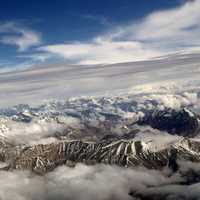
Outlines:
[{"label": "bright white flat elongated cloud resting just above the grey haze layer", "polygon": [[39,50],[57,54],[78,64],[127,62],[159,55],[156,50],[145,49],[139,42],[105,38],[96,38],[88,43],[49,45],[40,47]]}]

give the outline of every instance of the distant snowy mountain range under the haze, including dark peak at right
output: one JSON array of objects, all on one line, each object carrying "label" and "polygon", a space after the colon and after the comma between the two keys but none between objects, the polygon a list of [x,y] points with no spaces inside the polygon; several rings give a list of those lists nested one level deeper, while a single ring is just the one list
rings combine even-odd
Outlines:
[{"label": "distant snowy mountain range under the haze, including dark peak at right", "polygon": [[132,125],[137,124],[140,127],[149,125],[170,134],[194,137],[199,133],[199,119],[191,105],[174,109],[161,106],[159,101],[139,102],[132,96],[88,97],[49,102],[38,107],[21,104],[1,109],[0,131],[3,134],[11,130],[9,124],[12,123],[23,126],[54,123],[63,125],[65,133],[69,130],[85,132],[87,129],[87,133],[93,131],[94,135],[99,134],[98,138],[101,138],[113,133],[130,133],[133,131]]}]

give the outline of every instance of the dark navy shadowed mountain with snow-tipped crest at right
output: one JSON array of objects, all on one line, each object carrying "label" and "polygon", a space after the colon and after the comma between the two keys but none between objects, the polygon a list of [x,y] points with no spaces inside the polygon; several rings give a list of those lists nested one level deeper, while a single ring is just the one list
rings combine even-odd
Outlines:
[{"label": "dark navy shadowed mountain with snow-tipped crest at right", "polygon": [[186,109],[155,110],[147,113],[137,123],[187,137],[195,136],[199,129],[198,116]]}]

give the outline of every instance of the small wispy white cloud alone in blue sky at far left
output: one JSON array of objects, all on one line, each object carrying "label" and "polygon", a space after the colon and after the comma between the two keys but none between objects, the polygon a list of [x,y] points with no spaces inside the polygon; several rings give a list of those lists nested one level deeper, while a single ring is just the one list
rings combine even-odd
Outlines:
[{"label": "small wispy white cloud alone in blue sky at far left", "polygon": [[1,43],[15,45],[20,52],[41,43],[39,33],[14,22],[0,24],[0,33],[3,34],[0,38]]}]

